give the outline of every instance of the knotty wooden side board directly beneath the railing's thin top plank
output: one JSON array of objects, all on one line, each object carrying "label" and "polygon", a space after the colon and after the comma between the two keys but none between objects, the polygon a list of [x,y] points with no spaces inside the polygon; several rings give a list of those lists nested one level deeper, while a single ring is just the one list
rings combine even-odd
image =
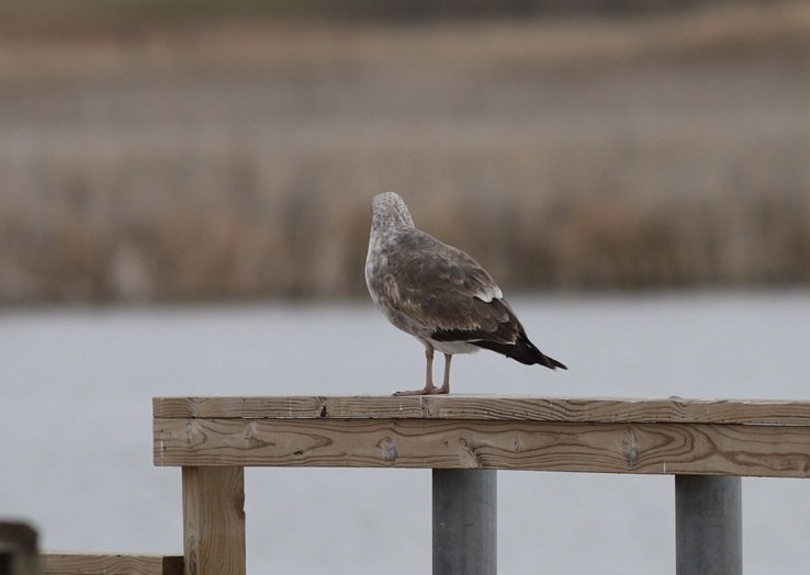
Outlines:
[{"label": "knotty wooden side board directly beneath the railing's thin top plank", "polygon": [[810,476],[810,427],[442,419],[157,419],[156,465]]}]

